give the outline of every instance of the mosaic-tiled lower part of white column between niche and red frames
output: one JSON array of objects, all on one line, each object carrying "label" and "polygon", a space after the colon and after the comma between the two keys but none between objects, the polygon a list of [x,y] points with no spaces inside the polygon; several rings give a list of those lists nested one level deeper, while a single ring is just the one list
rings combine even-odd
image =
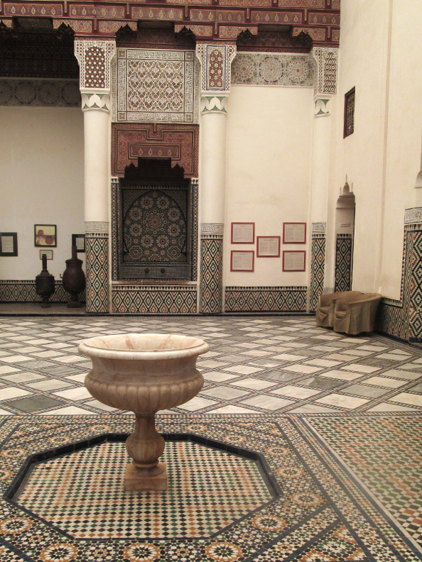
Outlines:
[{"label": "mosaic-tiled lower part of white column between niche and red frames", "polygon": [[222,248],[222,234],[201,233],[201,314],[222,312]]}]

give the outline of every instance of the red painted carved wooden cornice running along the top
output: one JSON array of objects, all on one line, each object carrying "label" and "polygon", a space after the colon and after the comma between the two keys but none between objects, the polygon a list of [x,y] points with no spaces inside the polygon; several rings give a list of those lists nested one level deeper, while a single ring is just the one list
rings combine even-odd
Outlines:
[{"label": "red painted carved wooden cornice running along the top", "polygon": [[23,33],[31,19],[34,28],[42,28],[48,18],[54,29],[69,25],[77,38],[115,38],[122,26],[136,32],[139,21],[171,21],[175,33],[188,28],[197,43],[234,43],[239,33],[249,30],[243,46],[247,48],[249,36],[256,50],[271,47],[278,31],[289,33],[293,43],[301,33],[307,33],[314,46],[337,47],[340,40],[340,0],[0,0],[4,26],[16,31],[16,18]]}]

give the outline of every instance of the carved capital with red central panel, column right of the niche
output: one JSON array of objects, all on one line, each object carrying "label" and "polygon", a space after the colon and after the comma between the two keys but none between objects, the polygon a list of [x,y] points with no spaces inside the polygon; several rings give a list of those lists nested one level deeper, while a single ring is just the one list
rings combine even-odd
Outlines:
[{"label": "carved capital with red central panel, column right of the niche", "polygon": [[236,45],[196,45],[196,56],[201,64],[202,94],[229,94],[231,65],[235,55]]}]

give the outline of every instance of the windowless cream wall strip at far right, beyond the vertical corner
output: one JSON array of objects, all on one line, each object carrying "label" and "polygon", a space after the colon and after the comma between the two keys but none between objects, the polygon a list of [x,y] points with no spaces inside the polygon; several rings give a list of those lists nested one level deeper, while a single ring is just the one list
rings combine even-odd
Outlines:
[{"label": "windowless cream wall strip at far right, beyond the vertical corner", "polygon": [[418,0],[394,0],[391,8],[380,292],[399,299],[404,211],[422,203],[415,189],[422,149],[422,74],[416,70],[422,68],[422,10]]}]

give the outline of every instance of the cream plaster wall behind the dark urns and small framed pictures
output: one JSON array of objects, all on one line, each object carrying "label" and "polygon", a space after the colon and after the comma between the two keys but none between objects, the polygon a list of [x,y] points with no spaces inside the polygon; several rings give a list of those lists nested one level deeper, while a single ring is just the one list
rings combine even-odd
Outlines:
[{"label": "cream plaster wall behind the dark urns and small framed pictures", "polygon": [[[72,233],[85,233],[82,111],[58,107],[0,108],[2,232],[18,233],[18,256],[0,257],[1,280],[35,280],[42,268],[34,224],[57,224],[48,270],[65,270]],[[78,254],[84,260],[85,253]]]}]

